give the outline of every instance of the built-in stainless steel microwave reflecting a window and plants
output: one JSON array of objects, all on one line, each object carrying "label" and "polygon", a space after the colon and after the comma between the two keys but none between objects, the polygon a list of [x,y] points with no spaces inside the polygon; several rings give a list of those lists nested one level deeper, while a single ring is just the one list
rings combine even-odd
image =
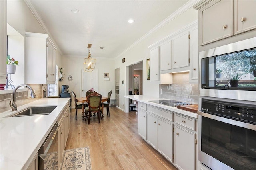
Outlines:
[{"label": "built-in stainless steel microwave reflecting a window and plants", "polygon": [[199,93],[256,102],[256,37],[201,51]]}]

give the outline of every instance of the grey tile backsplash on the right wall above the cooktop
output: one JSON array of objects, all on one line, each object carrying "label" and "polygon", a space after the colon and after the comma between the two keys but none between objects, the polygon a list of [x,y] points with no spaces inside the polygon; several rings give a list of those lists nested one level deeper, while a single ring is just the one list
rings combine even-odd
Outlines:
[{"label": "grey tile backsplash on the right wall above the cooktop", "polygon": [[198,84],[189,83],[189,72],[172,74],[172,82],[172,84],[159,84],[160,98],[198,104]]}]

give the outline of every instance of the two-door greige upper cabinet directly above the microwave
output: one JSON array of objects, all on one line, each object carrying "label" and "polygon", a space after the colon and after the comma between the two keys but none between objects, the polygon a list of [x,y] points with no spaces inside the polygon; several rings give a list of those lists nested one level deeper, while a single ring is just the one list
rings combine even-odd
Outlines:
[{"label": "two-door greige upper cabinet directly above the microwave", "polygon": [[206,45],[256,28],[255,0],[208,0],[198,10],[200,45]]}]

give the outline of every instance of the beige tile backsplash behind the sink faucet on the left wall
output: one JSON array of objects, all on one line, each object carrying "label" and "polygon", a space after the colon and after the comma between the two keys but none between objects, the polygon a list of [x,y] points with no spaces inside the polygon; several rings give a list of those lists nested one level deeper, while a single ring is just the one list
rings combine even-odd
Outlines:
[{"label": "beige tile backsplash behind the sink faucet on the left wall", "polygon": [[[36,93],[36,98],[28,98],[28,92],[16,92],[16,102],[17,106],[22,106],[24,104],[33,102],[42,98],[42,84],[28,84],[30,85]],[[8,111],[11,109],[9,103],[11,100],[11,93],[0,94],[0,113]]]}]

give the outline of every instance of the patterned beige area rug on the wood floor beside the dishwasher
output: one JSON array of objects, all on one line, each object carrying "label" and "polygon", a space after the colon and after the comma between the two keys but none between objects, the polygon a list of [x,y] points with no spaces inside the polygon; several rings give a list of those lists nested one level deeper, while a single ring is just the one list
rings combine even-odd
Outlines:
[{"label": "patterned beige area rug on the wood floor beside the dishwasher", "polygon": [[60,170],[92,170],[89,147],[64,150]]}]

